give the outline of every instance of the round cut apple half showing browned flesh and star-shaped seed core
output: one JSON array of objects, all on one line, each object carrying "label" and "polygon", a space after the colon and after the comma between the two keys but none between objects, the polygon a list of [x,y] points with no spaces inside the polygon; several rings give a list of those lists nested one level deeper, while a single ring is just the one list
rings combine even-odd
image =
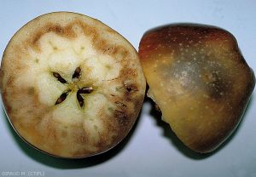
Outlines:
[{"label": "round cut apple half showing browned flesh and star-shaped seed core", "polygon": [[89,157],[117,145],[145,91],[131,44],[102,22],[67,12],[23,26],[4,51],[0,78],[15,131],[57,157]]}]

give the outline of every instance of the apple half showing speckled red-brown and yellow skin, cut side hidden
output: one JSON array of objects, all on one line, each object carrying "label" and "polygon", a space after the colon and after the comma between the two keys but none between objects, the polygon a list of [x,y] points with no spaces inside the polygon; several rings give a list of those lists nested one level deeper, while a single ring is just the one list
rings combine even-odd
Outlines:
[{"label": "apple half showing speckled red-brown and yellow skin, cut side hidden", "polygon": [[253,93],[253,70],[230,32],[175,24],[146,32],[139,56],[152,98],[177,137],[210,152],[236,128]]}]

